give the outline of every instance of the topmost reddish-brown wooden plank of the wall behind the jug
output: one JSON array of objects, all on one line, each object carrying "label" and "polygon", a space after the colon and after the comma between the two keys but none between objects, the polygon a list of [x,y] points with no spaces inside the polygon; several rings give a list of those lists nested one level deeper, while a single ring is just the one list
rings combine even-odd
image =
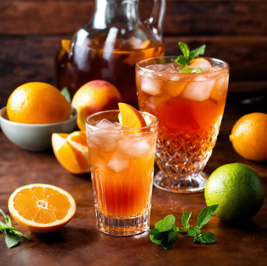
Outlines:
[{"label": "topmost reddish-brown wooden plank of the wall behind the jug", "polygon": [[[0,34],[73,34],[94,6],[94,0],[0,0]],[[152,6],[140,0],[142,19]],[[266,35],[266,13],[266,0],[167,0],[164,33]]]}]

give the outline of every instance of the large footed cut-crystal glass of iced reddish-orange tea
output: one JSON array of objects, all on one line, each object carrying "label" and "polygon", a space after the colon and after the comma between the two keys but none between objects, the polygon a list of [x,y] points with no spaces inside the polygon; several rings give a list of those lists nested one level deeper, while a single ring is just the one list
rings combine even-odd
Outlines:
[{"label": "large footed cut-crystal glass of iced reddish-orange tea", "polygon": [[[205,188],[202,172],[215,145],[224,111],[229,66],[214,58],[202,73],[178,73],[175,56],[151,58],[136,64],[140,110],[159,119],[154,185],[175,193]],[[194,59],[198,60],[198,59]],[[205,67],[209,66],[207,69]]]}]

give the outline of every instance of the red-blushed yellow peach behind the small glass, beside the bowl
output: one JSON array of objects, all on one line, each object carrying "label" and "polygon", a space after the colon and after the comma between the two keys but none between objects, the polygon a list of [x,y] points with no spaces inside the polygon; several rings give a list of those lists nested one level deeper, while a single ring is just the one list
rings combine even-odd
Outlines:
[{"label": "red-blushed yellow peach behind the small glass, beside the bowl", "polygon": [[96,112],[118,109],[120,92],[108,81],[93,80],[85,83],[74,94],[71,104],[77,109],[77,125],[85,130],[85,118]]}]

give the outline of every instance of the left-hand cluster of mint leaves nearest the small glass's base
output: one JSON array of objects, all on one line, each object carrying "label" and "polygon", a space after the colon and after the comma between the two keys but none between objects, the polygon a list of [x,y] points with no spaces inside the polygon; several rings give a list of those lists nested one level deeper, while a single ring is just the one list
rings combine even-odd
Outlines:
[{"label": "left-hand cluster of mint leaves nearest the small glass's base", "polygon": [[170,214],[156,222],[155,228],[149,230],[149,237],[153,243],[161,245],[164,249],[172,248],[179,240],[175,230],[175,217]]}]

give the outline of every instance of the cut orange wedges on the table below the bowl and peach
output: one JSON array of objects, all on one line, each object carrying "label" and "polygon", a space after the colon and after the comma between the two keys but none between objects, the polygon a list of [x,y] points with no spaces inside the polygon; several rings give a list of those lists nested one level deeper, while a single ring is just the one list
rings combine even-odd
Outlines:
[{"label": "cut orange wedges on the table below the bowl and peach", "polygon": [[71,134],[53,133],[52,147],[59,163],[73,174],[90,172],[88,148],[84,131]]}]

